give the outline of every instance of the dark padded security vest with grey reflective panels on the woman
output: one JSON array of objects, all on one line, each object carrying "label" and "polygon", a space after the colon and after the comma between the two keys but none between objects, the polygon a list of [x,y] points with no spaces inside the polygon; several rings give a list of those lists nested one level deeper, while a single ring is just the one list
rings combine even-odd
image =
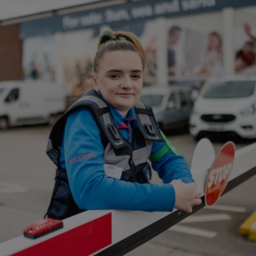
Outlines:
[{"label": "dark padded security vest with grey reflective panels on the woman", "polygon": [[104,145],[105,164],[122,168],[121,180],[127,182],[149,183],[151,167],[147,160],[151,154],[153,141],[164,141],[154,118],[151,107],[138,102],[135,106],[137,128],[133,129],[132,142],[121,136],[112,120],[109,107],[90,89],[89,92],[71,105],[50,131],[46,153],[57,166],[55,185],[46,216],[54,219],[65,219],[84,210],[79,209],[72,196],[66,170],[59,163],[60,145],[66,119],[71,112],[88,108],[93,112],[100,128]]}]

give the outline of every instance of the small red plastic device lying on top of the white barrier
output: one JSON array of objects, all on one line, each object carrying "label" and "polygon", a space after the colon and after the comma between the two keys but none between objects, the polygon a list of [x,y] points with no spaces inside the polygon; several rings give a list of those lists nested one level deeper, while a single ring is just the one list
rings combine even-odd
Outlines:
[{"label": "small red plastic device lying on top of the white barrier", "polygon": [[63,228],[63,221],[45,218],[35,221],[23,230],[24,237],[35,239]]}]

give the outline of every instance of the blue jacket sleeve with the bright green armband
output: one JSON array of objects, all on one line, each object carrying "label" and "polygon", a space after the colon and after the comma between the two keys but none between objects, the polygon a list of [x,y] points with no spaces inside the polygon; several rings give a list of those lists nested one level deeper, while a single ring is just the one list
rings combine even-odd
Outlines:
[{"label": "blue jacket sleeve with the bright green armband", "polygon": [[164,183],[173,180],[182,180],[182,182],[194,182],[190,167],[184,157],[179,155],[174,146],[164,136],[165,142],[154,142],[152,144],[151,159],[158,152],[163,151],[159,158],[151,160],[152,168],[158,172],[159,178]]}]

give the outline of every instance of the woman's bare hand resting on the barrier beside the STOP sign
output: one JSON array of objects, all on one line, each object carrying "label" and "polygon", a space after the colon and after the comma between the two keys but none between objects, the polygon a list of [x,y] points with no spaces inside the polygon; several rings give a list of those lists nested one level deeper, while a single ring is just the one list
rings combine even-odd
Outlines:
[{"label": "woman's bare hand resting on the barrier beside the STOP sign", "polygon": [[200,205],[202,200],[198,197],[202,195],[197,190],[196,183],[184,183],[181,180],[171,182],[175,189],[175,208],[192,213],[192,206]]}]

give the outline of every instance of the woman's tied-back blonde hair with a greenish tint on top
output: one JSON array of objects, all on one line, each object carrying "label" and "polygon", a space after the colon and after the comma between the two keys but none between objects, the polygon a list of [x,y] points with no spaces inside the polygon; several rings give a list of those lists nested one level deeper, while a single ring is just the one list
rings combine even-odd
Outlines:
[{"label": "woman's tied-back blonde hair with a greenish tint on top", "polygon": [[97,43],[97,53],[93,62],[93,72],[97,73],[99,61],[103,58],[105,52],[113,50],[132,50],[139,54],[143,69],[146,65],[146,53],[142,43],[136,35],[126,31],[106,30],[99,38]]}]

